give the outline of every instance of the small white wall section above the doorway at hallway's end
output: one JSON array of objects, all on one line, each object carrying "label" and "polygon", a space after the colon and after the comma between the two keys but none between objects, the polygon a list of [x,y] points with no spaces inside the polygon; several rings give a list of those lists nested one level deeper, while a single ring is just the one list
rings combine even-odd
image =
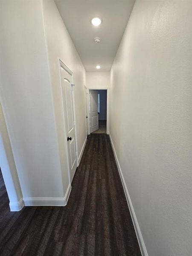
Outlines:
[{"label": "small white wall section above the doorway at hallway's end", "polygon": [[109,87],[110,72],[86,72],[86,86],[94,87]]}]

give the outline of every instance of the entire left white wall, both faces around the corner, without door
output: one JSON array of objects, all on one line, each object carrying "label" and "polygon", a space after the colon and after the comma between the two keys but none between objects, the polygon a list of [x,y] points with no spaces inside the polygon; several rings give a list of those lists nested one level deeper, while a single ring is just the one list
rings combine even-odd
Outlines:
[{"label": "entire left white wall, both faces around the corner, without door", "polygon": [[0,9],[1,102],[23,197],[52,204],[70,185],[58,58],[74,73],[79,154],[85,70],[54,1],[3,0]]}]

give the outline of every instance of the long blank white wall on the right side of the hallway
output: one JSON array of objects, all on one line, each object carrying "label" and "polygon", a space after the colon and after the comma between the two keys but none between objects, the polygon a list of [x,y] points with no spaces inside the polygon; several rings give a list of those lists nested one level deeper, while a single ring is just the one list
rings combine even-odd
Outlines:
[{"label": "long blank white wall on the right side of the hallway", "polygon": [[111,68],[110,134],[149,256],[192,241],[192,5],[136,0]]}]

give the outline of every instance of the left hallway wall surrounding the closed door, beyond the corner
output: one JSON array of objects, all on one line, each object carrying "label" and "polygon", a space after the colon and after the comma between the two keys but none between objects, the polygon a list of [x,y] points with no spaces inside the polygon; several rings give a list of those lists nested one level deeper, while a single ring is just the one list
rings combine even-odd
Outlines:
[{"label": "left hallway wall surrounding the closed door, beyond the corner", "polygon": [[85,104],[84,104],[84,86],[86,84],[86,76],[83,64],[73,45],[69,33],[64,22],[58,12],[53,0],[43,1],[44,26],[47,40],[47,51],[49,58],[50,79],[52,84],[52,96],[54,102],[55,121],[57,125],[58,146],[61,160],[61,169],[63,170],[63,182],[67,187],[67,176],[64,170],[67,169],[67,148],[66,136],[64,132],[64,124],[62,118],[62,104],[60,96],[60,84],[58,74],[58,58],[64,62],[73,72],[74,93],[76,104],[76,126],[78,154],[86,140],[85,127]]}]

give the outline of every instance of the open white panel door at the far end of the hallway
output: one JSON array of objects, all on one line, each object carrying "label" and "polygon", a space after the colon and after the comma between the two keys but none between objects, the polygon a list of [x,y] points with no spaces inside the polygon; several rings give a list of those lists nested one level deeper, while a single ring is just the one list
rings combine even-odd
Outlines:
[{"label": "open white panel door at the far end of the hallway", "polygon": [[90,90],[90,132],[99,129],[98,91]]}]

